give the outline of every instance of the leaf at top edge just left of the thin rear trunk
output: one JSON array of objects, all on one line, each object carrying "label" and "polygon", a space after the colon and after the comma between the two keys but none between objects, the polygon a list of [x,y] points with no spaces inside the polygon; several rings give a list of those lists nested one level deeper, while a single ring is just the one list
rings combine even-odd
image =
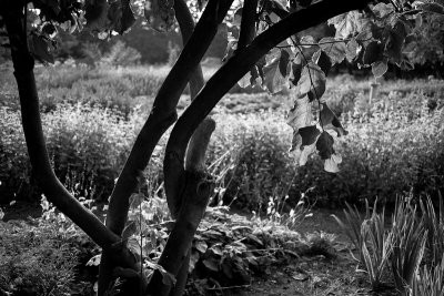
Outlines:
[{"label": "leaf at top edge just left of the thin rear trunk", "polygon": [[148,24],[159,31],[170,31],[174,25],[174,0],[145,0],[144,17]]}]

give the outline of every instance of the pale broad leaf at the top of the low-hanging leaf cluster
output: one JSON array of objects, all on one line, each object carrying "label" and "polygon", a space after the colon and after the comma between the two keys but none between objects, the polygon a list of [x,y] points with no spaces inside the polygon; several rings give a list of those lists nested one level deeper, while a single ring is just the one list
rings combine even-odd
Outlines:
[{"label": "pale broad leaf at the top of the low-hanging leaf cluster", "polygon": [[310,91],[315,95],[315,99],[321,99],[325,92],[326,78],[321,68],[310,61],[301,73],[301,79],[297,83],[299,95],[304,96]]}]

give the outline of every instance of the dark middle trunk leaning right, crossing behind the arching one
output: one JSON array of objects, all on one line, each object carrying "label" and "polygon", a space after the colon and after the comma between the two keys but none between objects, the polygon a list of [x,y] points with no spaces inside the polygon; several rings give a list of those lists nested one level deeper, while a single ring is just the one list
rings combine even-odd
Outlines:
[{"label": "dark middle trunk leaning right, crossing behind the arching one", "polygon": [[[200,74],[195,74],[199,62],[210,47],[218,32],[218,25],[225,17],[232,1],[210,0],[195,29],[186,29],[186,33],[192,31],[189,42],[159,90],[152,111],[135,140],[111,194],[107,226],[115,234],[120,235],[123,231],[128,218],[129,197],[138,185],[139,172],[147,167],[160,137],[176,120],[175,108],[186,83],[190,80],[199,82]],[[184,8],[181,2],[178,4],[179,10]],[[184,18],[183,22],[190,23],[190,19]],[[198,90],[192,88],[192,91]],[[103,253],[99,274],[99,295],[103,295],[110,282],[112,268],[109,255]]]}]

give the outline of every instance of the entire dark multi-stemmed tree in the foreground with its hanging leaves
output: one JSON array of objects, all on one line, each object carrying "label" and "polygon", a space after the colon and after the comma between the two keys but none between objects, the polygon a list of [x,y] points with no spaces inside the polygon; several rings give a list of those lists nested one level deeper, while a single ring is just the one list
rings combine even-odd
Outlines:
[{"label": "entire dark multi-stemmed tree in the foreground with its hanging leaves", "polygon": [[[382,76],[387,64],[411,69],[403,49],[422,14],[442,17],[443,0],[2,0],[1,35],[14,67],[22,125],[32,170],[44,195],[101,248],[99,295],[115,277],[127,279],[125,295],[181,295],[186,280],[190,246],[213,191],[205,171],[205,150],[215,127],[209,116],[235,84],[259,85],[271,93],[294,86],[291,151],[303,165],[312,153],[324,169],[336,172],[341,162],[334,136],[346,131],[323,98],[330,68],[344,59],[371,67]],[[33,67],[53,62],[51,49],[61,30],[89,30],[98,38],[122,34],[137,18],[159,31],[178,22],[183,50],[160,88],[110,197],[105,224],[83,207],[56,177],[48,157]],[[194,19],[198,22],[194,23]],[[223,65],[204,82],[200,61],[228,22],[231,31]],[[315,40],[301,32],[321,22],[334,25],[335,37]],[[176,104],[190,84],[192,102],[178,119]],[[140,203],[134,194],[141,172],[167,129],[174,124],[165,147],[164,190],[175,223],[162,255],[154,264],[135,256],[129,245],[134,224],[127,225],[129,208]],[[140,231],[140,229],[139,229]],[[141,246],[142,247],[142,246]],[[144,267],[154,269],[150,276]]]}]

